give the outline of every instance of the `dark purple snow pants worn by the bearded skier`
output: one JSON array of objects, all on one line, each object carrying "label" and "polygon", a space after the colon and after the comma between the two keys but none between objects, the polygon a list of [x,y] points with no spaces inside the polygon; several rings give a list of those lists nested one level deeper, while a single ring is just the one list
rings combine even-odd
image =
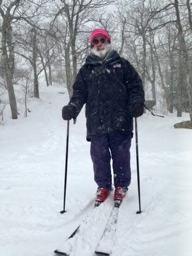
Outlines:
[{"label": "dark purple snow pants worn by the bearded skier", "polygon": [[94,180],[99,188],[111,189],[111,158],[113,161],[114,185],[119,187],[130,185],[130,147],[131,134],[107,133],[91,138]]}]

